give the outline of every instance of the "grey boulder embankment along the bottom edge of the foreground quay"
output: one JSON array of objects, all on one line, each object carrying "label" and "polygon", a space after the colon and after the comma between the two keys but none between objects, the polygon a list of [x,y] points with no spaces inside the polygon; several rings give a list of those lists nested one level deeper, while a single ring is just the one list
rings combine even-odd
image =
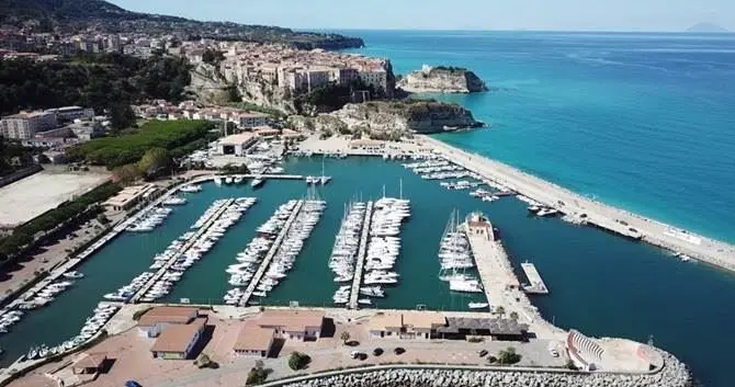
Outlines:
[{"label": "grey boulder embankment along the bottom edge of the foreground quay", "polygon": [[664,368],[649,374],[584,373],[516,367],[391,365],[316,374],[263,386],[283,387],[690,387],[687,366],[662,351]]}]

